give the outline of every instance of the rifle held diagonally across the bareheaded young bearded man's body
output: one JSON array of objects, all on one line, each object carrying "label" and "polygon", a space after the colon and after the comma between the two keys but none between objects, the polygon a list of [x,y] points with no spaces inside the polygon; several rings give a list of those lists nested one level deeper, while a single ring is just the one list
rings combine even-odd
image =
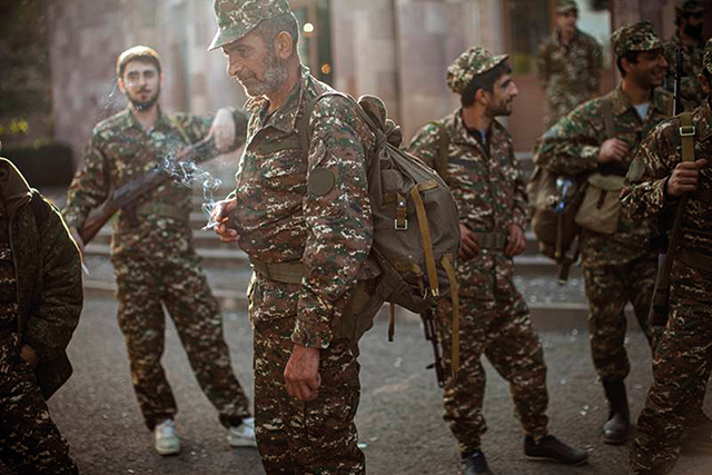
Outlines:
[{"label": "rifle held diagonally across the bareheaded young bearded man's body", "polygon": [[[215,148],[215,140],[212,140],[212,138],[206,137],[198,142],[185,147],[176,155],[171,162],[188,161],[200,155],[208,155],[209,158],[217,157],[218,151]],[[89,216],[83,225],[81,225],[79,236],[83,244],[87,245],[93,239],[97,232],[99,232],[99,229],[120,209],[135,207],[136,204],[150,191],[169,181],[171,179],[171,171],[168,167],[157,166],[148,174],[113,190],[111,197],[101,206],[101,209],[97,214]]]}]

